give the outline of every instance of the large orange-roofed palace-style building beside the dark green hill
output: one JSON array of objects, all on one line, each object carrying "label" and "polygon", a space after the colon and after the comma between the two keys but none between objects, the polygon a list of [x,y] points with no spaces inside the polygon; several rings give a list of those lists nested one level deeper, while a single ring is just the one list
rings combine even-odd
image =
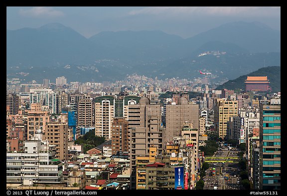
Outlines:
[{"label": "large orange-roofed palace-style building beside the dark green hill", "polygon": [[270,82],[267,76],[247,76],[244,83],[246,91],[268,91]]}]

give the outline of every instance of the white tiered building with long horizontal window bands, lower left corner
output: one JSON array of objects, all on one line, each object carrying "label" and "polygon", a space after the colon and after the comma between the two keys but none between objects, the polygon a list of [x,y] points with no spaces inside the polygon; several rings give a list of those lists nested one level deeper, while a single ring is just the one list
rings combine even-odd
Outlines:
[{"label": "white tiered building with long horizontal window bands, lower left corner", "polygon": [[6,153],[6,187],[23,184],[61,183],[62,163],[55,160],[49,142],[42,140],[40,130],[24,144],[23,153]]}]

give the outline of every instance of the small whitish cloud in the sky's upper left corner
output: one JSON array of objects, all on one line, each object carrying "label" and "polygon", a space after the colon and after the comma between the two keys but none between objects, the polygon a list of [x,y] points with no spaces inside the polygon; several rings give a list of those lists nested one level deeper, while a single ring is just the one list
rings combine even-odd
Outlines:
[{"label": "small whitish cloud in the sky's upper left corner", "polygon": [[64,15],[63,12],[53,9],[52,7],[32,7],[30,9],[20,9],[19,14],[33,17],[56,17]]}]

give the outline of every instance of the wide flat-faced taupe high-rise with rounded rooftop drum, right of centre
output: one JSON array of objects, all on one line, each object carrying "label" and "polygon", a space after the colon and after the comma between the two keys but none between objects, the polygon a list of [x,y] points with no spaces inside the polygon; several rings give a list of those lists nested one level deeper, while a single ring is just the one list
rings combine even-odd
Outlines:
[{"label": "wide flat-faced taupe high-rise with rounded rooftop drum, right of centre", "polygon": [[177,105],[166,105],[164,143],[172,141],[174,136],[180,136],[185,122],[199,128],[199,105],[190,104],[185,97],[178,99]]}]

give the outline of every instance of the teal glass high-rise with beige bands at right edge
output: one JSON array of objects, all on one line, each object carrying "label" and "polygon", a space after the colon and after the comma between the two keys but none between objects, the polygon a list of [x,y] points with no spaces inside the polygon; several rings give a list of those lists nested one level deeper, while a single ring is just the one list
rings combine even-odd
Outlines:
[{"label": "teal glass high-rise with beige bands at right edge", "polygon": [[281,189],[281,102],[260,105],[259,189]]}]

